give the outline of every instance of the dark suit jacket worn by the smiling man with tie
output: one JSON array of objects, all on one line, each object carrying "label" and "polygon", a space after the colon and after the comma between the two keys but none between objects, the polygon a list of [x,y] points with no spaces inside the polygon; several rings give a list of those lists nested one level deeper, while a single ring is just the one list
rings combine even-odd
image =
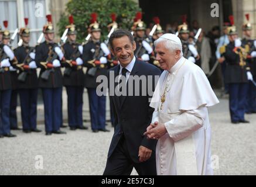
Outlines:
[{"label": "dark suit jacket worn by the smiling man with tie", "polygon": [[[114,68],[111,68],[108,72],[108,83],[112,84],[113,80],[110,79],[110,72],[114,71],[115,77],[118,76],[120,71],[120,65],[117,65]],[[111,73],[112,73],[111,72]],[[131,75],[161,75],[159,68],[145,63],[143,61],[136,60],[134,68],[129,76],[127,86],[131,84]],[[148,82],[148,81],[147,81]],[[115,88],[118,83],[115,83]],[[148,85],[148,84],[147,84]],[[134,84],[135,86],[135,84]],[[155,83],[152,86],[152,89],[155,89]],[[113,90],[113,89],[110,89]],[[146,96],[142,96],[142,84],[139,84],[139,96],[126,96],[123,99],[123,102],[120,103],[120,100],[117,95],[111,96],[110,93],[110,103],[112,105],[114,113],[114,136],[110,144],[110,150],[108,151],[108,158],[111,157],[111,154],[117,147],[120,137],[123,135],[127,142],[127,147],[129,154],[132,158],[132,161],[139,162],[139,146],[147,147],[155,151],[156,140],[148,140],[143,134],[146,131],[146,127],[151,123],[153,108],[149,106],[149,98],[151,96],[146,92]],[[134,89],[135,91],[135,89]]]}]

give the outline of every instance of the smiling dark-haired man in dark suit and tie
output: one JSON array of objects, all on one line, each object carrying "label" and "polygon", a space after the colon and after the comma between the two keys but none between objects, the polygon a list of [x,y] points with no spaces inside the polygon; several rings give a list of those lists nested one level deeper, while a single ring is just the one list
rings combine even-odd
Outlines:
[{"label": "smiling dark-haired man in dark suit and tie", "polygon": [[[117,57],[120,65],[112,68],[108,74],[109,86],[114,78],[121,77],[128,89],[129,96],[113,93],[110,88],[110,102],[114,113],[114,136],[108,151],[108,160],[104,175],[130,175],[135,168],[139,175],[156,175],[155,147],[156,140],[148,140],[144,135],[146,126],[151,123],[153,109],[149,107],[151,95],[142,86],[148,85],[155,89],[155,81],[152,85],[148,82],[148,76],[159,77],[161,71],[155,66],[139,61],[134,56],[136,44],[130,32],[127,30],[115,30],[110,37],[112,54]],[[146,77],[146,82],[138,81],[134,76]],[[135,84],[133,84],[135,80]],[[115,83],[115,88],[124,86],[121,81]],[[157,81],[156,81],[157,82]],[[135,88],[134,85],[139,86]],[[131,87],[132,85],[132,87]],[[132,94],[131,95],[131,88]],[[148,90],[148,89],[147,89]],[[134,96],[138,92],[138,96]],[[112,93],[111,93],[112,92]],[[123,91],[122,91],[123,92]]]}]

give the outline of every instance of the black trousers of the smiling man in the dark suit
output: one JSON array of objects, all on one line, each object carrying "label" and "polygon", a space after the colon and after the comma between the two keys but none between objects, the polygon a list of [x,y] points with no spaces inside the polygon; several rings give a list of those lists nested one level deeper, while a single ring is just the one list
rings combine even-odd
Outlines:
[{"label": "black trousers of the smiling man in the dark suit", "polygon": [[133,168],[139,175],[156,175],[155,151],[152,152],[149,160],[136,163],[129,156],[127,143],[124,135],[122,135],[114,153],[107,160],[103,175],[131,175]]}]

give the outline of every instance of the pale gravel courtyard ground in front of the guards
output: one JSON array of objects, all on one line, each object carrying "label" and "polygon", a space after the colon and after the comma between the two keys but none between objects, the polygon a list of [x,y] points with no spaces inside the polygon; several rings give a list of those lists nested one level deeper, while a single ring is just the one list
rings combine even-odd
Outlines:
[{"label": "pale gravel courtyard ground in front of the guards", "polygon": [[[250,124],[231,124],[227,99],[220,99],[209,113],[211,153],[215,161],[219,158],[214,174],[255,175],[256,115],[245,116]],[[113,134],[110,125],[107,127],[110,133],[66,129],[66,135],[45,136],[13,131],[18,137],[0,139],[0,175],[101,175]],[[43,158],[43,169],[36,169],[36,156]]]}]

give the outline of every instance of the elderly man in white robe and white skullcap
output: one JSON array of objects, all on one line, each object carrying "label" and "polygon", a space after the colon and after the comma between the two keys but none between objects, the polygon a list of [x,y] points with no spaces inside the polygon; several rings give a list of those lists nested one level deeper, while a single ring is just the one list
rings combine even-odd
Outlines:
[{"label": "elderly man in white robe and white skullcap", "polygon": [[219,101],[201,68],[182,57],[175,34],[163,34],[155,46],[165,71],[151,100],[152,124],[144,134],[158,139],[157,174],[213,175],[207,108]]}]

